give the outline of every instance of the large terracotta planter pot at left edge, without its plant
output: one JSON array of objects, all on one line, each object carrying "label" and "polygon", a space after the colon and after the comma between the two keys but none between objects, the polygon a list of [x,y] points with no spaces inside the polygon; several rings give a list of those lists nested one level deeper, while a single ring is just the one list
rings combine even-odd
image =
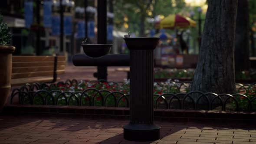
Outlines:
[{"label": "large terracotta planter pot at left edge, without its plant", "polygon": [[12,53],[15,47],[0,46],[0,111],[6,103],[11,88]]}]

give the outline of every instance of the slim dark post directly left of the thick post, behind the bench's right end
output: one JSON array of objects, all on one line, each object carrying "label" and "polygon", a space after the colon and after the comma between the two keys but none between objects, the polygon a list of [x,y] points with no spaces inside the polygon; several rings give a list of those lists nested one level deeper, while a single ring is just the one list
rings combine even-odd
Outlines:
[{"label": "slim dark post directly left of the thick post, behind the bench's right end", "polygon": [[63,11],[64,7],[62,5],[62,0],[59,2],[59,16],[60,16],[60,35],[59,35],[59,47],[60,52],[63,52],[63,44],[64,44],[64,23],[63,23]]}]

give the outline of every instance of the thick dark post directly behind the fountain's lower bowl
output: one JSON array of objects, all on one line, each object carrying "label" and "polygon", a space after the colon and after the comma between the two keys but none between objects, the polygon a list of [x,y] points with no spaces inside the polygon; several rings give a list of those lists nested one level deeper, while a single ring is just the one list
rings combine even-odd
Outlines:
[{"label": "thick dark post directly behind the fountain's lower bowl", "polygon": [[[107,43],[107,0],[97,0],[98,13],[98,44]],[[97,78],[107,80],[107,67],[97,67]]]}]

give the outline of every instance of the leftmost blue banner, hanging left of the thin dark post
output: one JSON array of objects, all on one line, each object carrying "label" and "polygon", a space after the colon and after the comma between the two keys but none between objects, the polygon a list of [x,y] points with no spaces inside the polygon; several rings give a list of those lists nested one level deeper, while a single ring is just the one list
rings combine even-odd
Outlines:
[{"label": "leftmost blue banner, hanging left of the thin dark post", "polygon": [[26,28],[30,28],[30,25],[33,23],[33,2],[26,1],[24,7],[25,14],[25,26]]}]

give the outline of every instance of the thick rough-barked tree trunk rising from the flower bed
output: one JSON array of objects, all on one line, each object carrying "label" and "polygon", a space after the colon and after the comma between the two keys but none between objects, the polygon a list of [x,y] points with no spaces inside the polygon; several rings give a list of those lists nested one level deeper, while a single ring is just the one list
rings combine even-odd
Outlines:
[{"label": "thick rough-barked tree trunk rising from the flower bed", "polygon": [[191,91],[233,94],[237,0],[208,0]]}]

